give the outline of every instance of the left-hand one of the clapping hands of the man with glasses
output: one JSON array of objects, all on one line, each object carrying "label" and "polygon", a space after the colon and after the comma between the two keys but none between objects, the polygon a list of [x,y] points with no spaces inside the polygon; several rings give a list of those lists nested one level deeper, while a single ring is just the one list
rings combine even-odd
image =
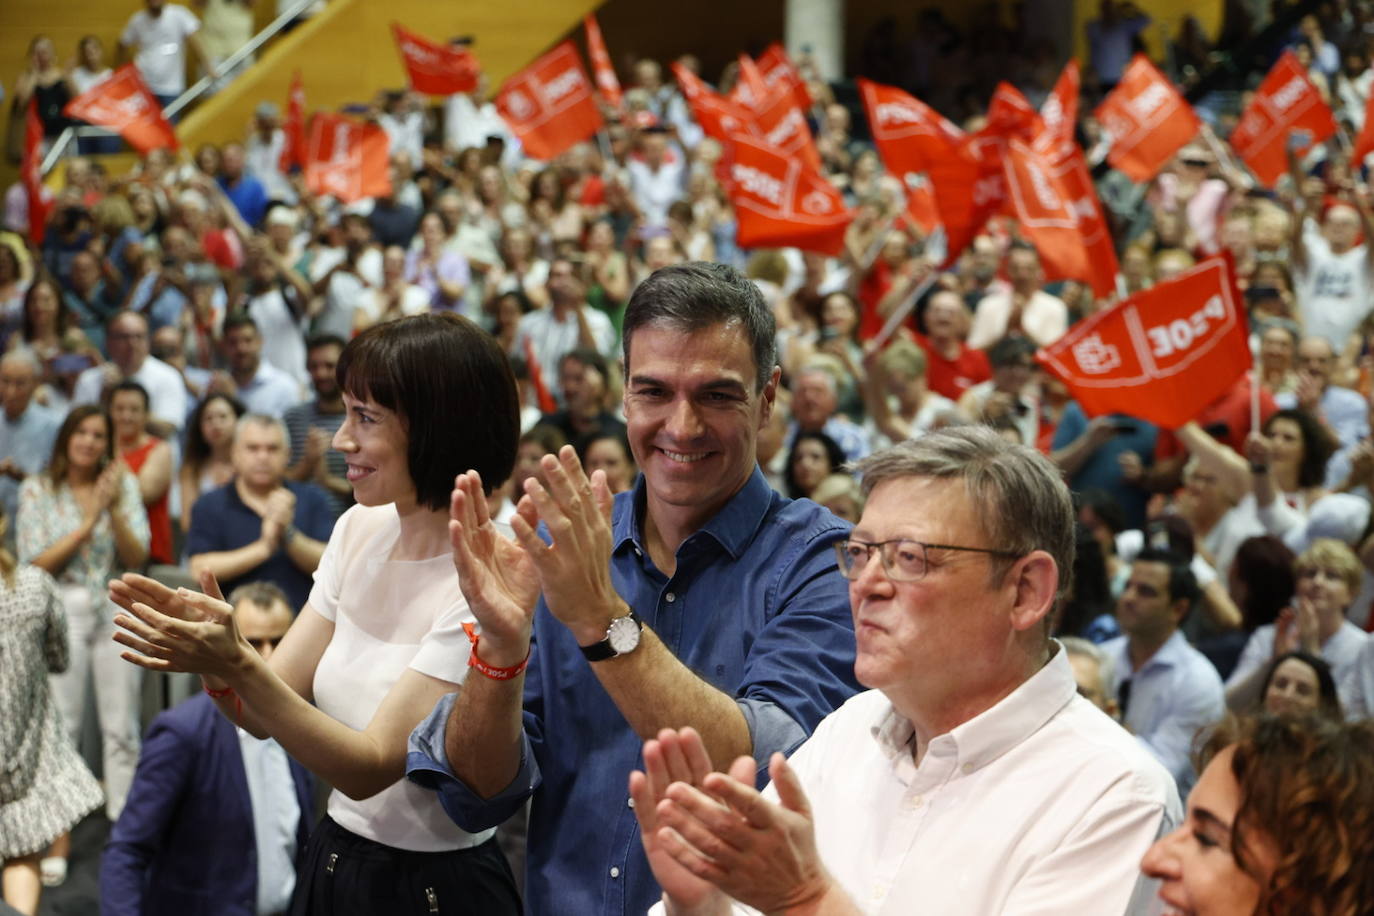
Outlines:
[{"label": "left-hand one of the clapping hands of the man with glasses", "polygon": [[[725,912],[730,906],[714,884],[694,875],[668,851],[665,843],[671,845],[673,839],[661,834],[671,834],[672,829],[661,828],[658,820],[658,805],[666,798],[669,786],[701,786],[710,772],[710,757],[695,729],[676,732],[665,728],[658,732],[657,739],[644,742],[644,769],[629,775],[629,797],[635,802],[639,838],[654,879],[668,895],[672,913]],[[753,780],[752,772],[749,779]]]}]

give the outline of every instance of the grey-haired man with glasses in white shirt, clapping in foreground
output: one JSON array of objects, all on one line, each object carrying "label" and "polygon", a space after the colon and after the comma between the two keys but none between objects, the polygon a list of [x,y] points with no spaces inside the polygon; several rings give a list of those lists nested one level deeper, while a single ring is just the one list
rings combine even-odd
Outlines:
[{"label": "grey-haired man with glasses in white shirt, clapping in foreground", "polygon": [[859,464],[835,545],[871,688],[797,753],[727,773],[691,729],[631,794],[671,913],[1147,912],[1139,860],[1180,818],[1169,775],[1077,694],[1050,611],[1070,586],[1058,471],[982,427]]}]

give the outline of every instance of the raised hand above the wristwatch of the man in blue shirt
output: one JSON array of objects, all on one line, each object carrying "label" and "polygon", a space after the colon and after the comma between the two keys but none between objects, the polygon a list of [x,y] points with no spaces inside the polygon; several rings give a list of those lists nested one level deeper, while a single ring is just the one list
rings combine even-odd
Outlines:
[{"label": "raised hand above the wristwatch of the man in blue shirt", "polygon": [[613,618],[629,612],[610,578],[611,493],[602,471],[587,479],[570,445],[558,457],[545,455],[541,468],[548,488],[526,481],[521,507],[526,500],[533,505],[554,542],[544,544],[532,523],[511,527],[539,571],[548,610],[589,645],[605,637]]}]

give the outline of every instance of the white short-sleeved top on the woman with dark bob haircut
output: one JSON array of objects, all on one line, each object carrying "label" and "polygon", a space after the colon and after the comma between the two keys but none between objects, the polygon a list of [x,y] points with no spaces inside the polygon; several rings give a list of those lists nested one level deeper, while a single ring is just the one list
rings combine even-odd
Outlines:
[{"label": "white short-sleeved top on the woman with dark bob haircut", "polygon": [[[474,618],[453,558],[389,559],[398,536],[394,505],[354,505],[335,523],[311,589],[309,607],[334,623],[315,669],[315,705],[359,731],[407,669],[455,689],[467,674],[463,623]],[[334,791],[328,813],[359,836],[422,853],[469,849],[495,832],[462,829],[434,792],[404,777],[360,802]]]}]

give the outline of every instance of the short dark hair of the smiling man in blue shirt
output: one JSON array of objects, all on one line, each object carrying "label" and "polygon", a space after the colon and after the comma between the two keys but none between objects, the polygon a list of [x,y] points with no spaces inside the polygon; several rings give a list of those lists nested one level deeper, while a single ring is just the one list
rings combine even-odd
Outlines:
[{"label": "short dark hair of the smiling man in blue shirt", "polygon": [[776,323],[753,280],[732,266],[691,261],[654,271],[625,306],[624,357],[629,374],[629,346],[635,331],[665,324],[694,334],[717,324],[736,323],[754,354],[754,391],[763,391],[778,363]]}]

